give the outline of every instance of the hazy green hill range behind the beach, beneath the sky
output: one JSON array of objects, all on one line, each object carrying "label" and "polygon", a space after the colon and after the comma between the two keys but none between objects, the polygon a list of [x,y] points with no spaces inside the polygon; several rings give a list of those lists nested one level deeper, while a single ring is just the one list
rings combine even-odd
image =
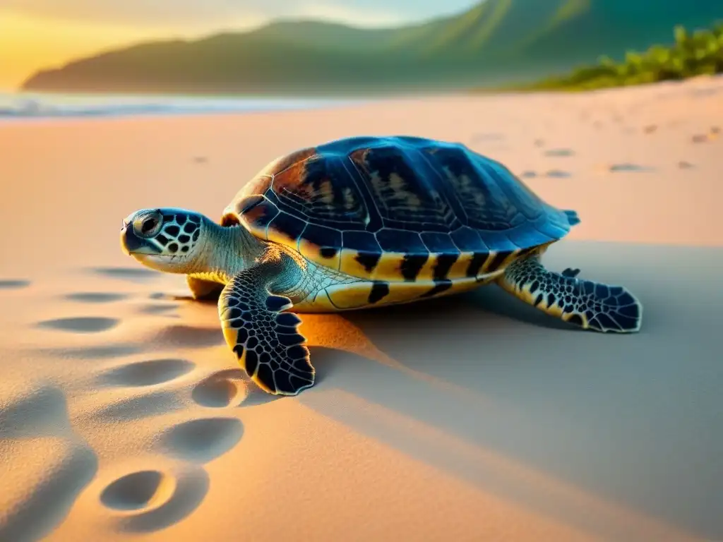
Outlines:
[{"label": "hazy green hill range behind the beach, beneath the sky", "polygon": [[454,17],[368,30],[278,21],[247,33],[143,43],[33,74],[24,90],[339,93],[497,85],[707,27],[721,0],[486,0]]}]

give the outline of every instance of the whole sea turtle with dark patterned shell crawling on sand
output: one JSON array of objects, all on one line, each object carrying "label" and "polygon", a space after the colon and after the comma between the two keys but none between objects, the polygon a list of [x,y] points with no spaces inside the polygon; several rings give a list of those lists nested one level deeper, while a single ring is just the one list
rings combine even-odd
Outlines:
[{"label": "whole sea turtle with dark patterned shell crawling on sand", "polygon": [[[642,306],[620,286],[545,269],[540,256],[579,222],[505,166],[464,145],[354,137],[274,160],[219,223],[151,208],[123,221],[124,251],[218,297],[223,335],[263,390],[314,384],[294,312],[445,296],[497,283],[583,328],[636,332]],[[293,311],[293,312],[291,312]]]}]

